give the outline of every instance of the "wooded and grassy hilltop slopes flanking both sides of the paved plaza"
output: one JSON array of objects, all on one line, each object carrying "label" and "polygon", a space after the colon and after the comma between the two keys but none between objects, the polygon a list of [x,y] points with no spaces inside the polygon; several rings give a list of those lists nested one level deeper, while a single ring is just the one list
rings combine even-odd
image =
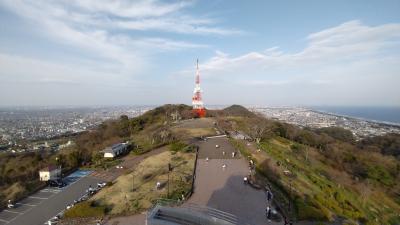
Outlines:
[{"label": "wooded and grassy hilltop slopes flanking both sides of the paved plaza", "polygon": [[[56,163],[56,157],[65,171],[107,167],[112,164],[100,151],[116,142],[131,143],[134,155],[161,146],[180,149],[193,137],[214,134],[216,125],[218,132],[248,137],[230,141],[256,162],[257,182],[272,186],[283,213],[298,220],[400,223],[399,135],[355,141],[345,129],[300,128],[240,105],[212,110],[207,116],[194,119],[190,106],[164,105],[138,117],[106,121],[78,135],[75,146],[59,153],[4,155],[1,199],[19,198],[40,187],[35,174],[40,166]],[[294,210],[286,210],[289,203]]]}]

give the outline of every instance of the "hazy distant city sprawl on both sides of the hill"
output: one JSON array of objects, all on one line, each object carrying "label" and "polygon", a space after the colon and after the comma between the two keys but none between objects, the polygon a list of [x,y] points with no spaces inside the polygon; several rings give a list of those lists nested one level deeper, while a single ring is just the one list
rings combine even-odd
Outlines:
[{"label": "hazy distant city sprawl on both sides of the hill", "polygon": [[[0,109],[0,151],[12,153],[53,150],[73,145],[70,136],[90,130],[121,115],[135,117],[153,107],[17,108]],[[250,107],[272,119],[301,127],[338,126],[352,131],[357,139],[400,133],[400,126],[297,107]]]}]

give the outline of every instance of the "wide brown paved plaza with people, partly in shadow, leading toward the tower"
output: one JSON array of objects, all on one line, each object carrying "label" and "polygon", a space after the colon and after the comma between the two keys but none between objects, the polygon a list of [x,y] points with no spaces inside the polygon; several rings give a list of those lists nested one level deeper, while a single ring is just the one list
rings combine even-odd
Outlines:
[{"label": "wide brown paved plaza with people, partly in shadow, leading toward the tower", "polygon": [[[220,147],[215,148],[216,144]],[[240,156],[232,158],[232,151],[236,150],[224,137],[200,142],[195,189],[188,202],[232,213],[241,224],[281,224],[267,220],[264,191],[243,184],[243,177],[249,173],[248,162]]]}]

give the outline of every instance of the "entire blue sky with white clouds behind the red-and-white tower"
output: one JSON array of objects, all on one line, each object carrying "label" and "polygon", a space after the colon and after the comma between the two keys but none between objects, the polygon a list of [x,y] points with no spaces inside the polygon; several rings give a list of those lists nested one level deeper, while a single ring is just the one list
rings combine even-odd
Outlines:
[{"label": "entire blue sky with white clouds behind the red-and-white tower", "polygon": [[400,106],[400,1],[0,0],[0,106]]}]

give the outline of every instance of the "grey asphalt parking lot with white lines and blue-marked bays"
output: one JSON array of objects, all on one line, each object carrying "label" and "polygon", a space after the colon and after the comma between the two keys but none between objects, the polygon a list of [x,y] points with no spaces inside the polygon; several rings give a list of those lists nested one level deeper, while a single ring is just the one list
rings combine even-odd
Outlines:
[{"label": "grey asphalt parking lot with white lines and blue-marked bays", "polygon": [[63,188],[44,188],[15,203],[12,209],[0,212],[0,225],[43,225],[49,219],[86,193],[91,185],[95,187],[102,180],[88,176],[91,171],[78,170],[63,180]]}]

